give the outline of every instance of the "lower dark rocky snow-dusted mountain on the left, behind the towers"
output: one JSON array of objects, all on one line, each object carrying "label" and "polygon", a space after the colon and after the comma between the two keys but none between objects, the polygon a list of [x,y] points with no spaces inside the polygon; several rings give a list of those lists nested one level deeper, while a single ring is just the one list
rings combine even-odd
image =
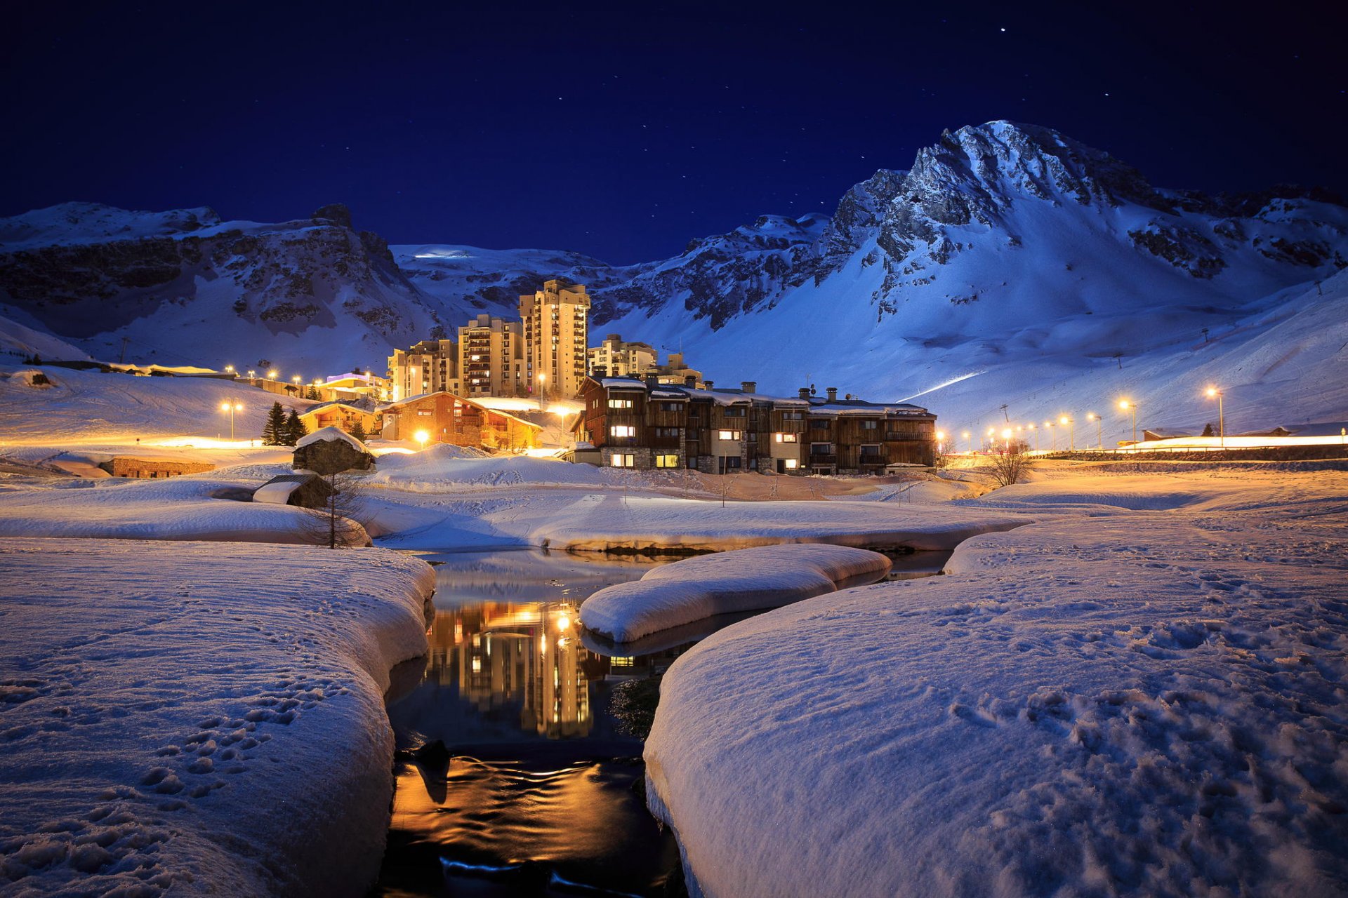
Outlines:
[{"label": "lower dark rocky snow-dusted mountain on the left, behind the towers", "polygon": [[319,374],[376,364],[437,323],[344,206],[276,225],[210,209],[63,203],[0,219],[0,314],[116,361]]}]

